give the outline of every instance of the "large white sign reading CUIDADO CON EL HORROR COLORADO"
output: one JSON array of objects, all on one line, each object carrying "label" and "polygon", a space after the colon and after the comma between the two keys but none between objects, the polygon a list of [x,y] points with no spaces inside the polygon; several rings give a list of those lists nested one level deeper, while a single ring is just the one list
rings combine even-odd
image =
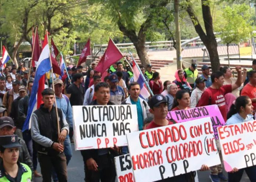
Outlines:
[{"label": "large white sign reading CUIDADO CON EL HORROR COLORADO", "polygon": [[127,134],[136,182],[220,164],[210,117]]}]

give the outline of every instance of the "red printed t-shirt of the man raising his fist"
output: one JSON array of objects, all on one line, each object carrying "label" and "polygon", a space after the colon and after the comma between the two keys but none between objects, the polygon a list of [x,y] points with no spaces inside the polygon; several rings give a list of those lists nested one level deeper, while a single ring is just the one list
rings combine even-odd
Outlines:
[{"label": "red printed t-shirt of the man raising his fist", "polygon": [[[209,94],[211,93],[211,95]],[[213,89],[211,87],[207,88],[205,92],[202,94],[200,100],[196,107],[202,107],[206,105],[217,104],[220,109],[221,115],[223,116],[224,121],[227,120],[227,109],[225,102],[225,94],[232,92],[231,85],[223,85],[219,89]],[[211,96],[211,102],[209,97]]]}]

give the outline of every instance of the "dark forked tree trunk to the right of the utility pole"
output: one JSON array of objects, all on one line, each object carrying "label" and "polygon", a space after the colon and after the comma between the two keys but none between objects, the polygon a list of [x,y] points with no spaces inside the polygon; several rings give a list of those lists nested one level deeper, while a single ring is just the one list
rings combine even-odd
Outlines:
[{"label": "dark forked tree trunk to the right of the utility pole", "polygon": [[192,1],[184,0],[182,5],[186,8],[186,12],[190,17],[196,32],[198,33],[200,39],[202,40],[203,44],[207,48],[207,51],[209,52],[211,69],[213,71],[219,70],[220,59],[218,57],[217,41],[214,35],[213,18],[211,16],[211,10],[210,10],[210,0],[201,0],[203,23],[204,23],[205,30],[203,30],[199,22],[199,19],[195,14],[195,11],[192,7]]}]

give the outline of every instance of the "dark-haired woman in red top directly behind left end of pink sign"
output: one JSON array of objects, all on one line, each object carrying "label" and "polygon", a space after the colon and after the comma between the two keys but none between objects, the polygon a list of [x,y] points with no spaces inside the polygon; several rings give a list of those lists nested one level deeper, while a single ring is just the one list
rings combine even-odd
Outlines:
[{"label": "dark-haired woman in red top directly behind left end of pink sign", "polygon": [[179,90],[176,93],[172,111],[182,110],[182,109],[189,109],[190,107],[190,96],[188,90]]}]

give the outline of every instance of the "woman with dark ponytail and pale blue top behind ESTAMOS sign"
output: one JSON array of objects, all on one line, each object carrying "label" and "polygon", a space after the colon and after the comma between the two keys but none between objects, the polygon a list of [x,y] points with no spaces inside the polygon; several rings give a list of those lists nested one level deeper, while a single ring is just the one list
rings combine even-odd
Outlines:
[{"label": "woman with dark ponytail and pale blue top behind ESTAMOS sign", "polygon": [[[232,125],[247,121],[253,121],[253,106],[252,101],[248,96],[240,96],[235,100],[235,104],[231,105],[230,111],[227,114],[226,125]],[[250,182],[256,181],[256,166],[246,167],[228,172],[228,182],[239,182],[242,178],[243,171],[248,175]]]}]

